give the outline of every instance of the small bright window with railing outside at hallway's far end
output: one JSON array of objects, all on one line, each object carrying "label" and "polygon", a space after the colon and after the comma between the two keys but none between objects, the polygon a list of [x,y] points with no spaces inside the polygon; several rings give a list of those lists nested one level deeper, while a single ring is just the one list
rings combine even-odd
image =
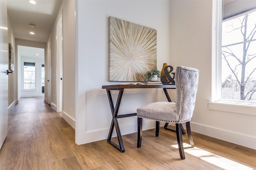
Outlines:
[{"label": "small bright window with railing outside at hallway's far end", "polygon": [[36,89],[36,66],[35,63],[24,62],[24,89]]}]

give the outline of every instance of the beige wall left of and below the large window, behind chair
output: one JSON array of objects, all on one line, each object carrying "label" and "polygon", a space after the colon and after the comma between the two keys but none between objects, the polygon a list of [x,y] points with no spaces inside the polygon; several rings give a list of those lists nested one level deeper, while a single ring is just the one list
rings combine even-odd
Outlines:
[{"label": "beige wall left of and below the large window, behind chair", "polygon": [[255,115],[208,109],[214,87],[212,1],[174,0],[170,11],[171,62],[175,66],[191,66],[200,71],[192,131],[256,149]]}]

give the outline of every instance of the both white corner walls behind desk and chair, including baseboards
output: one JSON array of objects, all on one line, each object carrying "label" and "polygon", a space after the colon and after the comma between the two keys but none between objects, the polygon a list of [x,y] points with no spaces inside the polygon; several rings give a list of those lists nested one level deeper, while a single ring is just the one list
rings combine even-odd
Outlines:
[{"label": "both white corner walls behind desk and chair, including baseboards", "polygon": [[[212,2],[77,1],[76,2],[76,143],[106,139],[111,112],[108,82],[108,17],[157,30],[157,67],[170,63],[200,70],[192,131],[256,149],[255,115],[208,109],[212,99]],[[125,90],[120,113],[152,102],[158,90]],[[147,94],[146,94],[147,93]],[[116,97],[115,95],[113,95]],[[158,96],[165,100],[165,97]],[[122,135],[136,132],[136,117],[119,119]],[[147,128],[154,124],[144,122]]]}]

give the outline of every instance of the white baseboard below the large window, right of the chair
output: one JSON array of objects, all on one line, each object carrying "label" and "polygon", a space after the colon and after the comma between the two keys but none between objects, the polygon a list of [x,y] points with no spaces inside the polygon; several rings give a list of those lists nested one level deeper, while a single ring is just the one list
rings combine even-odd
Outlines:
[{"label": "white baseboard below the large window, right of the chair", "polygon": [[[190,122],[191,131],[221,139],[223,141],[228,141],[241,145],[244,147],[256,149],[256,137],[248,136],[246,134],[236,133],[234,131],[227,131],[226,129],[219,129],[216,127],[210,127],[207,125],[202,125],[194,122]],[[254,130],[254,129],[248,129]]]}]

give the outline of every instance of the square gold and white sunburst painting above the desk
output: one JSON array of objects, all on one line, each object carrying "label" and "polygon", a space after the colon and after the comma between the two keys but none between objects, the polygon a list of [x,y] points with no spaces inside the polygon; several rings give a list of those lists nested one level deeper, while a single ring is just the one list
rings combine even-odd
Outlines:
[{"label": "square gold and white sunburst painting above the desk", "polygon": [[143,82],[156,68],[156,30],[109,17],[109,81]]}]

